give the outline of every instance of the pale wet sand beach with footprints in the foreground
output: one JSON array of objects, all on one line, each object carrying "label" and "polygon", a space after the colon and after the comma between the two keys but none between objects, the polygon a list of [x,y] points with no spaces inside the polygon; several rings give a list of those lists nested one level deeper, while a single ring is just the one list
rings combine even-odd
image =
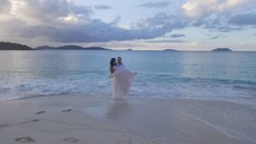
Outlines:
[{"label": "pale wet sand beach with footprints in the foreground", "polygon": [[47,96],[0,102],[0,143],[255,144],[255,122],[226,101]]}]

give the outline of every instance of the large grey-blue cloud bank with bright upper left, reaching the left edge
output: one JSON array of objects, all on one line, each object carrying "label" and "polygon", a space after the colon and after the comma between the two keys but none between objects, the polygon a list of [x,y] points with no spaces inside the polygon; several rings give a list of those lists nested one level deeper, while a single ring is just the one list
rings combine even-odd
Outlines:
[{"label": "large grey-blue cloud bank with bright upper left, reaching the left edge", "polygon": [[99,43],[161,37],[181,29],[185,20],[174,14],[160,13],[134,26],[90,18],[90,9],[67,0],[10,0],[9,20],[0,20],[3,37],[41,37],[59,43]]}]

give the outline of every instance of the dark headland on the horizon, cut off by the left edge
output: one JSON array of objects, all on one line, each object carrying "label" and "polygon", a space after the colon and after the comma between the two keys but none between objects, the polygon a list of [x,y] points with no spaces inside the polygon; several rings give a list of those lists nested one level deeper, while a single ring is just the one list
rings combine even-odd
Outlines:
[{"label": "dark headland on the horizon, cut off by the left edge", "polygon": [[0,50],[32,50],[32,48],[19,43],[0,42]]}]

